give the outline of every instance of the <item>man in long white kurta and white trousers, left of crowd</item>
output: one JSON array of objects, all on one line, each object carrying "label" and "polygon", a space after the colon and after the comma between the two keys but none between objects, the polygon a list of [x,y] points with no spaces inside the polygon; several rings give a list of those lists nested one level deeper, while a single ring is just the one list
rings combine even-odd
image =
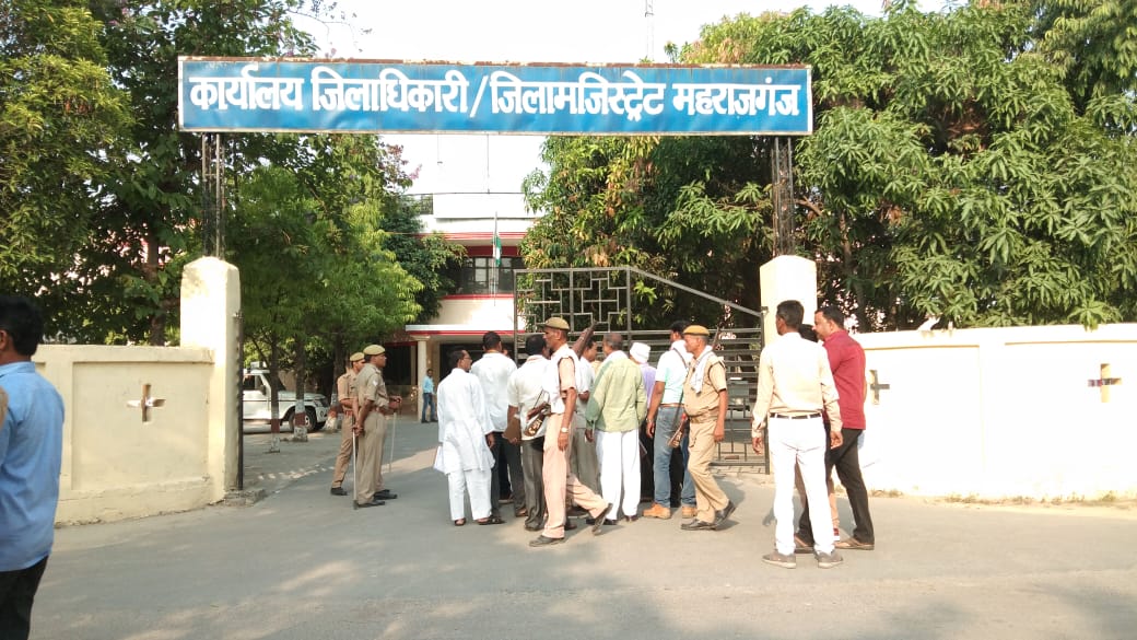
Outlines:
[{"label": "man in long white kurta and white trousers, left of crowd", "polygon": [[493,426],[485,411],[482,385],[470,374],[473,364],[470,354],[455,352],[450,364],[450,375],[438,385],[438,441],[442,471],[450,485],[450,519],[456,525],[465,524],[468,491],[470,509],[481,523],[490,517],[493,457],[489,443]]}]

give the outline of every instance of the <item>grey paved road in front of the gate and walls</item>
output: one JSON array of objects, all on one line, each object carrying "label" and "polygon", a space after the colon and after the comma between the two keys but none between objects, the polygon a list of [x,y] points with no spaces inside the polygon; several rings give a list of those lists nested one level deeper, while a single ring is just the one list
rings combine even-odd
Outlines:
[{"label": "grey paved road in front of the gate and walls", "polygon": [[[822,571],[762,564],[764,476],[722,478],[732,526],[587,527],[566,544],[449,523],[437,428],[401,421],[388,484],[352,511],[329,495],[338,435],[284,453],[250,441],[267,499],[63,528],[36,600],[42,639],[1131,639],[1137,511],[878,498],[878,548]],[[258,436],[259,437],[259,436]],[[263,441],[259,441],[263,442]],[[843,517],[848,519],[847,504]]]}]

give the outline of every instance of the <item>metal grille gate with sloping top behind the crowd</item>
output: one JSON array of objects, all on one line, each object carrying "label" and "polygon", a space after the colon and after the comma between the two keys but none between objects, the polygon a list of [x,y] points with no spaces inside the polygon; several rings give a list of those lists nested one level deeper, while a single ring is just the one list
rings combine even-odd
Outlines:
[{"label": "metal grille gate with sloping top behind the crowd", "polygon": [[[686,318],[712,329],[716,353],[725,360],[729,411],[727,435],[713,461],[719,466],[756,467],[770,473],[769,454],[750,448],[750,409],[758,381],[758,354],[764,344],[763,312],[632,266],[604,269],[521,269],[514,271],[515,353],[547,318],[572,327],[570,342],[588,327],[597,339],[607,331],[625,344],[652,347],[652,364],[671,347],[667,326]],[[649,392],[650,393],[650,392]]]}]

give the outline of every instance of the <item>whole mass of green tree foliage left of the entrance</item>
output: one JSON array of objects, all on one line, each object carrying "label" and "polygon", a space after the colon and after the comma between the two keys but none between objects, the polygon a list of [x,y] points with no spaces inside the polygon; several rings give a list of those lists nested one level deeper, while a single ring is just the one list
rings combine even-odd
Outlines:
[{"label": "whole mass of green tree foliage left of the entrance", "polygon": [[[0,284],[60,339],[176,339],[202,252],[201,138],[177,57],[302,56],[310,0],[13,0],[0,9]],[[224,257],[254,351],[330,360],[433,313],[456,255],[424,236],[401,150],[375,136],[226,134]],[[406,268],[404,266],[406,265]],[[428,285],[431,293],[423,293]],[[417,300],[416,300],[417,298]],[[321,362],[316,362],[321,364]]]}]

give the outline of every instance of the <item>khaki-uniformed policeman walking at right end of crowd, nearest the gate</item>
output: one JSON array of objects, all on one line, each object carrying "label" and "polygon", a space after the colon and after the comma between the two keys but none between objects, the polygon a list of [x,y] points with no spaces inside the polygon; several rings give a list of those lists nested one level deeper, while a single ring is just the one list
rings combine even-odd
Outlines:
[{"label": "khaki-uniformed policeman walking at right end of crowd, nearest the gate", "polygon": [[683,523],[684,531],[714,531],[735,511],[735,503],[711,475],[715,443],[725,436],[727,367],[708,344],[711,331],[700,325],[683,330],[683,343],[691,354],[683,383],[683,410],[690,420],[690,459],[687,469],[695,483],[695,518]]}]

